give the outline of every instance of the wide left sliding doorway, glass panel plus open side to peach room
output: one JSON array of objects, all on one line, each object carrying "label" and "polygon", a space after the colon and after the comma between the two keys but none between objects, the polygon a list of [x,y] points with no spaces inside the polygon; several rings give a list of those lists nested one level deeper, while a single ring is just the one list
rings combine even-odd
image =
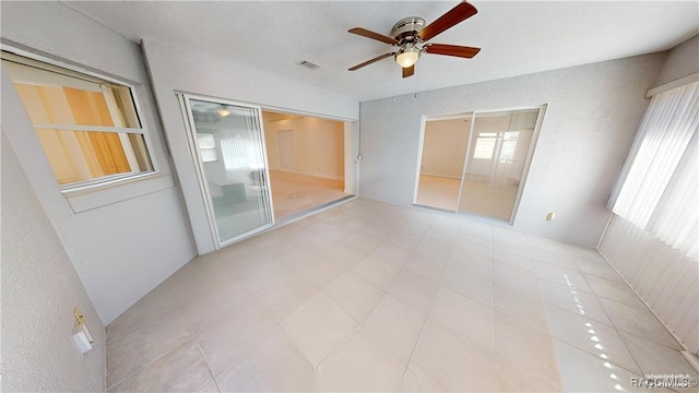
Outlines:
[{"label": "wide left sliding doorway, glass panel plus open side to peach room", "polygon": [[355,122],[178,97],[216,249],[354,196]]}]

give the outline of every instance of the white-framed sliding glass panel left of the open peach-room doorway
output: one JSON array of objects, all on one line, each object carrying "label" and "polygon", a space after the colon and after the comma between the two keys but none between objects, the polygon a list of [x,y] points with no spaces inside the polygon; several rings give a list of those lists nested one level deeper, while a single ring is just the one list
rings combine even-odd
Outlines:
[{"label": "white-framed sliding glass panel left of the open peach-room doorway", "polygon": [[258,107],[180,96],[212,235],[218,247],[274,224]]}]

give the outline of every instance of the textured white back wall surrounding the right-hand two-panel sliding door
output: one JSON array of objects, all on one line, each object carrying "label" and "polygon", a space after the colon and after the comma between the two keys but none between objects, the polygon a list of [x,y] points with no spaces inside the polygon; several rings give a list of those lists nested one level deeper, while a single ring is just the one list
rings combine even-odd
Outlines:
[{"label": "textured white back wall surrounding the right-hand two-panel sliding door", "polygon": [[[594,247],[664,53],[362,103],[360,196],[411,205],[420,117],[548,104],[514,226]],[[556,219],[546,222],[547,212]]]}]

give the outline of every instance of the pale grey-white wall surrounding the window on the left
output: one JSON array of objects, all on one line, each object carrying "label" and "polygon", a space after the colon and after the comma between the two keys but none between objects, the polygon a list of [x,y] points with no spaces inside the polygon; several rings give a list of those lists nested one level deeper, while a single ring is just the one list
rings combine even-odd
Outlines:
[{"label": "pale grey-white wall surrounding the window on the left", "polygon": [[[1,17],[3,44],[135,85],[161,174],[67,199],[2,73],[3,130],[102,322],[108,324],[196,254],[139,46],[59,2],[3,3]],[[8,186],[4,178],[2,183]]]}]

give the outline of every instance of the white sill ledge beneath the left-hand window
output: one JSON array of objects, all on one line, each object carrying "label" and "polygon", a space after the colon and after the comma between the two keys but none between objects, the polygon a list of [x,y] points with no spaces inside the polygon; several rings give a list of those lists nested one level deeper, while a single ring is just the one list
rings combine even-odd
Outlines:
[{"label": "white sill ledge beneath the left-hand window", "polygon": [[66,196],[73,213],[82,213],[173,187],[175,183],[169,175],[151,172],[128,179],[62,190],[61,193]]}]

